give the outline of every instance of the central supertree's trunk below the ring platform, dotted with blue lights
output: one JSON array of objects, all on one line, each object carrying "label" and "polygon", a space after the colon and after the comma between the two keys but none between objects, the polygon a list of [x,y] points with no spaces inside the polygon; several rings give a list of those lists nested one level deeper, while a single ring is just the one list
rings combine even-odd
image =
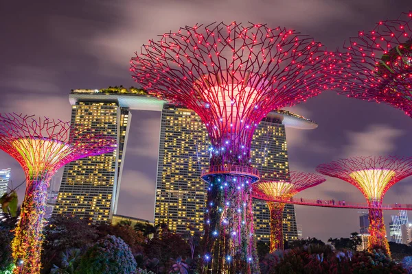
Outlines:
[{"label": "central supertree's trunk below the ring platform, dotted with blue lights", "polygon": [[247,177],[211,179],[205,222],[205,273],[260,273]]}]

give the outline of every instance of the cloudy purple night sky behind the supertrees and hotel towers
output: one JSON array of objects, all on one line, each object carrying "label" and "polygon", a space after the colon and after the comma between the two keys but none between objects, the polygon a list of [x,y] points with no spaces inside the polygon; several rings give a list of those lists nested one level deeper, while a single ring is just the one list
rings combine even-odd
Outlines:
[{"label": "cloudy purple night sky behind the supertrees and hotel towers", "polygon": [[[73,88],[133,86],[130,57],[150,38],[195,23],[236,21],[287,27],[323,42],[332,51],[359,30],[409,12],[412,3],[383,0],[288,1],[1,1],[0,108],[69,121]],[[287,129],[290,169],[314,171],[323,162],[355,155],[412,155],[412,119],[387,105],[325,91],[291,108],[319,124]],[[159,150],[159,112],[133,111],[117,214],[153,219]],[[0,169],[19,164],[0,151]],[[58,188],[61,171],[53,180]],[[20,201],[24,188],[19,188]],[[391,188],[384,203],[412,203],[412,177]],[[354,186],[328,181],[297,197],[365,202]],[[358,231],[359,210],[296,207],[304,236],[322,240]],[[386,212],[385,221],[389,223]],[[409,214],[412,218],[412,214]]]}]

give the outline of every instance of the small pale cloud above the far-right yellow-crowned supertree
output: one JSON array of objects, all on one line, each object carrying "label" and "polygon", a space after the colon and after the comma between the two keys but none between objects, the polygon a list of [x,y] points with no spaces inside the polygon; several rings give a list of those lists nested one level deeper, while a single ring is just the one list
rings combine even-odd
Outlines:
[{"label": "small pale cloud above the far-right yellow-crowned supertree", "polygon": [[342,158],[352,156],[388,155],[395,151],[396,139],[405,132],[390,125],[368,125],[364,132],[348,132],[350,141],[342,149]]}]

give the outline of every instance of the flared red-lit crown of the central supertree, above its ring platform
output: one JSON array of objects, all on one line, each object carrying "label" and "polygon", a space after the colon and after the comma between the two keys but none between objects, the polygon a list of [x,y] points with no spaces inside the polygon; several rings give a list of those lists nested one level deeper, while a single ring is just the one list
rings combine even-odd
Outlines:
[{"label": "flared red-lit crown of the central supertree, above its ring platform", "polygon": [[219,23],[150,40],[130,71],[150,92],[194,110],[216,151],[243,159],[268,112],[328,88],[331,62],[319,42],[291,30]]}]

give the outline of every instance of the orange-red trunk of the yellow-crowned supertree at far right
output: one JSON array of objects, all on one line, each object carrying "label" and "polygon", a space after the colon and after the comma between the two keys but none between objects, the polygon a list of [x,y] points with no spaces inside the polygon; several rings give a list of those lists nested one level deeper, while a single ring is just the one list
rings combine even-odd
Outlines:
[{"label": "orange-red trunk of the yellow-crowned supertree at far right", "polygon": [[369,234],[371,236],[368,239],[368,250],[382,249],[382,251],[391,256],[386,238],[385,222],[383,221],[382,201],[369,201],[368,204],[374,207],[369,209]]}]

